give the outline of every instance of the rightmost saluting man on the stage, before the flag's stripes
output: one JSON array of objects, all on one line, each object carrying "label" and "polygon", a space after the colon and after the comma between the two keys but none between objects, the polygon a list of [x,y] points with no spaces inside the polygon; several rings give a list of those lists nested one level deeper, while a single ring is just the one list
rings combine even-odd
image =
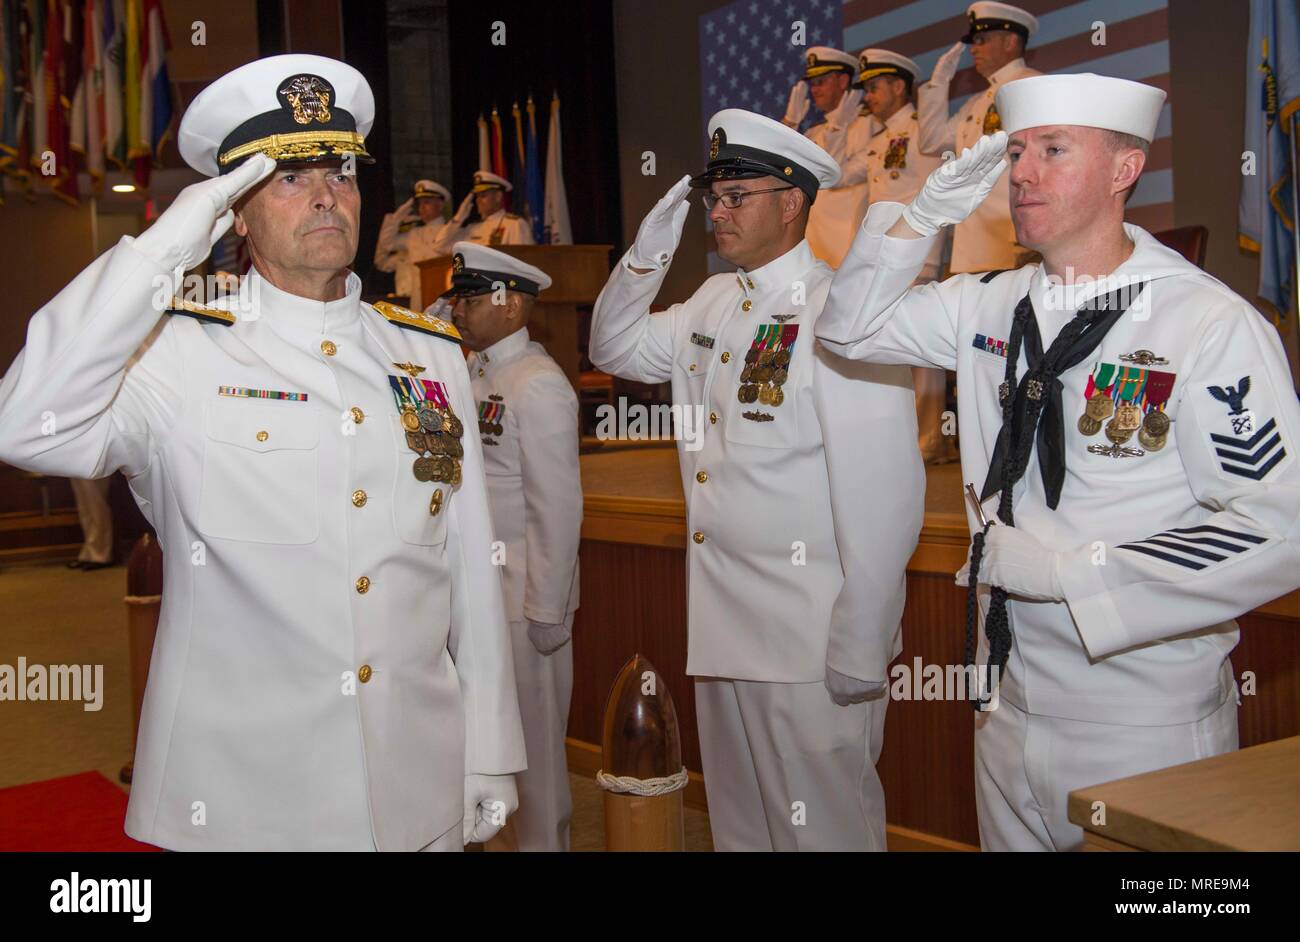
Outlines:
[{"label": "rightmost saluting man on the stage, before the flag's stripes", "polygon": [[[971,4],[966,16],[970,19],[966,35],[939,57],[930,82],[916,90],[920,149],[926,153],[961,153],[982,136],[997,131],[1002,127],[994,100],[998,90],[1009,82],[1041,74],[1024,64],[1024,44],[1039,29],[1039,21],[1034,16],[1019,6],[984,1]],[[949,117],[948,90],[967,45],[975,60],[975,71],[988,82],[988,88],[971,95]],[[1015,268],[1024,252],[1024,247],[1015,243],[1008,183],[1004,178],[998,181],[993,195],[953,230],[953,252],[948,268],[954,274]]]}]

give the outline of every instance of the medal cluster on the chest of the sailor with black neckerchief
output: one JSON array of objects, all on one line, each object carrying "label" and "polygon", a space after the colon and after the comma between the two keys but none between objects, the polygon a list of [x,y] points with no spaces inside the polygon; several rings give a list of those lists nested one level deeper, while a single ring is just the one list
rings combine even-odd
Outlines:
[{"label": "medal cluster on the chest of the sailor with black neckerchief", "polygon": [[1170,421],[1164,409],[1173,386],[1173,373],[1100,364],[1088,379],[1079,433],[1096,435],[1105,427],[1106,438],[1121,446],[1136,431],[1147,451],[1160,451],[1169,440]]}]

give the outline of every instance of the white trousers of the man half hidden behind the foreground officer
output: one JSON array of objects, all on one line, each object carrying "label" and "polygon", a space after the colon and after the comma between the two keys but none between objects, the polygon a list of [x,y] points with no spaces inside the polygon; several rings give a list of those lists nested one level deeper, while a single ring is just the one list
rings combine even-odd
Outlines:
[{"label": "white trousers of the man half hidden behind the foreground officer", "polygon": [[[569,631],[573,615],[566,618]],[[528,769],[515,776],[519,811],[511,815],[521,851],[567,851],[573,798],[569,794],[564,732],[573,694],[573,642],[549,655],[528,639],[528,622],[510,625],[515,687],[524,721]]]}]

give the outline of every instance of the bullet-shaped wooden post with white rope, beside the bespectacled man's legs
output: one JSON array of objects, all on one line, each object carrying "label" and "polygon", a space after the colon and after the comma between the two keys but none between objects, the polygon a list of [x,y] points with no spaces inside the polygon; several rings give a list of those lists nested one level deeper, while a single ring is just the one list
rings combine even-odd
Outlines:
[{"label": "bullet-shaped wooden post with white rope, beside the bespectacled man's legs", "polygon": [[[644,781],[682,770],[681,733],[672,694],[663,674],[641,655],[623,665],[610,689],[602,752],[602,776]],[[663,795],[637,795],[604,786],[604,848],[685,850],[681,799],[681,789]]]}]

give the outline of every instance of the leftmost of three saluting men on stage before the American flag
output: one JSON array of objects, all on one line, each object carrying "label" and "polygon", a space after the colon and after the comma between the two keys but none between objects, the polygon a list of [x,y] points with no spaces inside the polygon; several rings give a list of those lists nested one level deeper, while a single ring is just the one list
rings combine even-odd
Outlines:
[{"label": "leftmost of three saluting men on stage before the American flag", "polygon": [[[785,107],[785,126],[798,127],[807,116],[811,92],[811,104],[818,107],[824,120],[809,127],[805,135],[841,166],[866,143],[863,135],[849,134],[849,129],[859,122],[858,108],[862,104],[862,91],[854,82],[857,71],[858,60],[854,56],[828,45],[814,45],[805,60],[803,78],[794,83]],[[831,268],[837,266],[866,212],[867,187],[863,181],[840,179],[833,187],[827,187],[809,213],[807,240],[812,255]]]}]

